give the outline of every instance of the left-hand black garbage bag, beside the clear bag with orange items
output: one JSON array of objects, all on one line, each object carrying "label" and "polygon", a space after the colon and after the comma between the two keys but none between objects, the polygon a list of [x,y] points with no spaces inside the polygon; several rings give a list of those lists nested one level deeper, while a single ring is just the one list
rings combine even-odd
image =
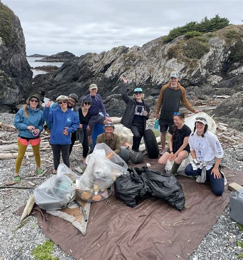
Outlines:
[{"label": "left-hand black garbage bag, beside the clear bag with orange items", "polygon": [[144,182],[136,172],[132,172],[130,169],[128,171],[131,173],[121,175],[115,180],[115,196],[133,208],[138,204]]}]

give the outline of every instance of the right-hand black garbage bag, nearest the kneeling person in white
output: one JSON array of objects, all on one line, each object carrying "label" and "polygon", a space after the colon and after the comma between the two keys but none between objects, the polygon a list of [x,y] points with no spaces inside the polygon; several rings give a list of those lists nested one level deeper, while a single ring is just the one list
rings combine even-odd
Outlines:
[{"label": "right-hand black garbage bag, nearest the kneeling person in white", "polygon": [[183,188],[174,175],[148,169],[148,167],[134,168],[144,187],[140,191],[141,197],[148,195],[166,201],[176,209],[182,211],[186,203]]}]

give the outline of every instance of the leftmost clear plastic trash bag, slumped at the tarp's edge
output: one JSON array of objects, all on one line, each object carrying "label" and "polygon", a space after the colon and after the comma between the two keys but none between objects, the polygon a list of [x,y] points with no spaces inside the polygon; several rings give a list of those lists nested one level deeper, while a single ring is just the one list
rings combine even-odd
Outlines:
[{"label": "leftmost clear plastic trash bag, slumped at the tarp's edge", "polygon": [[45,210],[66,208],[76,197],[76,178],[64,163],[59,164],[57,174],[34,189],[35,203]]}]

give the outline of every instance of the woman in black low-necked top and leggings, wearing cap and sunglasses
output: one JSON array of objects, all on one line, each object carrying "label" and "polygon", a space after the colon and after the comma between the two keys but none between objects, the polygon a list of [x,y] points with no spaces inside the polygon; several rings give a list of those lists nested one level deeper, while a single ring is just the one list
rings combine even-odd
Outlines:
[{"label": "woman in black low-necked top and leggings, wearing cap and sunglasses", "polygon": [[79,126],[76,131],[76,139],[79,140],[79,143],[83,145],[83,163],[86,164],[86,157],[89,152],[89,141],[88,141],[88,132],[89,131],[89,120],[92,116],[91,112],[89,111],[91,106],[91,102],[89,98],[84,98],[82,100],[82,107],[78,109],[78,116],[79,116]]}]

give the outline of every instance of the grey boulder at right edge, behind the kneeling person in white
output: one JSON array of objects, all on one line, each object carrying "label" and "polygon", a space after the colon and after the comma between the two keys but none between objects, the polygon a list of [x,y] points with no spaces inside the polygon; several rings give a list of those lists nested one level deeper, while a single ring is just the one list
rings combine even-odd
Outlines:
[{"label": "grey boulder at right edge, behind the kneeling person in white", "polygon": [[[242,84],[243,81],[241,81]],[[243,130],[243,91],[235,93],[225,102],[221,103],[213,113],[223,123],[232,128]]]}]

